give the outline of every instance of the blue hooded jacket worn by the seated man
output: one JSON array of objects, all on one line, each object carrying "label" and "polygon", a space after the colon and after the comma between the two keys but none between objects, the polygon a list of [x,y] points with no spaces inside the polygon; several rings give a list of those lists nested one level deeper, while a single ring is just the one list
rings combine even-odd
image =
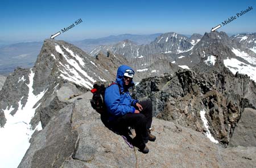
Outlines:
[{"label": "blue hooded jacket worn by the seated man", "polygon": [[[115,83],[110,87],[106,88],[105,91],[105,104],[108,110],[108,113],[112,116],[122,116],[127,113],[134,113],[135,104],[138,100],[133,100],[128,91],[130,87],[133,87],[133,80],[130,81],[128,86],[125,86],[123,80],[123,74],[126,70],[133,70],[131,67],[122,65],[117,70],[117,79]],[[120,91],[119,91],[120,88]],[[120,94],[121,92],[121,94]]]}]

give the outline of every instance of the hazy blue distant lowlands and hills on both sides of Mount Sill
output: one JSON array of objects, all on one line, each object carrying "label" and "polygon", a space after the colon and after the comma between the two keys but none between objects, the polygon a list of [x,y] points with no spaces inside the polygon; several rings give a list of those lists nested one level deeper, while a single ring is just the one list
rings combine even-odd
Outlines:
[{"label": "hazy blue distant lowlands and hills on both sides of Mount Sill", "polygon": [[[97,46],[111,45],[126,39],[136,42],[139,45],[148,44],[160,35],[160,33],[152,35],[123,34],[118,36],[73,41],[71,43],[89,53],[89,51],[93,50]],[[5,76],[13,72],[16,67],[32,67],[43,45],[43,42],[10,43],[11,41],[0,41],[0,74]]]}]

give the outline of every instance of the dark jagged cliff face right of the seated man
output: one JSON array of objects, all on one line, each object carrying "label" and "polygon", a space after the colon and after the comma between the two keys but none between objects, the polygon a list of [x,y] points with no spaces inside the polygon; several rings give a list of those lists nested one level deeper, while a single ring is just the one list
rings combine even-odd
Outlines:
[{"label": "dark jagged cliff face right of the seated man", "polygon": [[[205,63],[201,64],[205,66]],[[256,107],[254,81],[246,75],[233,75],[221,61],[204,73],[198,69],[183,70],[175,75],[143,79],[133,95],[150,98],[157,118],[196,131],[209,131],[214,139],[225,145],[229,143],[243,109]],[[204,116],[209,130],[202,122]]]}]

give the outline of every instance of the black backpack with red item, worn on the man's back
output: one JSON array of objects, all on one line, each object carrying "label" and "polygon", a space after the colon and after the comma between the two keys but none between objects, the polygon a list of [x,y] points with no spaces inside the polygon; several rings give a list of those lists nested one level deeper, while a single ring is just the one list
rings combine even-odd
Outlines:
[{"label": "black backpack with red item, worn on the man's back", "polygon": [[[112,83],[110,84],[108,87],[110,87],[111,85],[118,85],[117,83]],[[119,88],[119,92],[120,92],[120,87],[118,85]],[[93,97],[92,100],[90,100],[90,104],[92,105],[93,109],[96,110],[98,113],[100,114],[106,114],[106,105],[105,105],[105,91],[106,91],[106,87],[104,84],[98,85],[98,84],[94,84],[93,85],[93,89],[90,90],[90,92],[93,93]]]}]

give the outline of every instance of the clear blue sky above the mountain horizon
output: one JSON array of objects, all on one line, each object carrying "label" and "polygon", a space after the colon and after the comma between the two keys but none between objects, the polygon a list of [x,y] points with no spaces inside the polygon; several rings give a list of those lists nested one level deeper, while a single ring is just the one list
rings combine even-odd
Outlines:
[{"label": "clear blue sky above the mountain horizon", "polygon": [[0,40],[42,41],[83,22],[56,37],[84,40],[123,33],[209,32],[237,12],[253,10],[221,27],[226,33],[256,32],[255,1],[6,1],[0,5]]}]

